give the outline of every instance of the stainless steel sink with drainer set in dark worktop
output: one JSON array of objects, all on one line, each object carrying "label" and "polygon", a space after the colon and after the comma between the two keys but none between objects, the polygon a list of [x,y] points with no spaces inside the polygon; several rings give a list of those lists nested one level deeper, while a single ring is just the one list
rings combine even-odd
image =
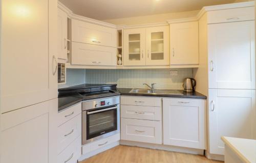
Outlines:
[{"label": "stainless steel sink with drainer set in dark worktop", "polygon": [[130,93],[135,93],[135,94],[159,94],[159,95],[183,95],[183,90],[176,90],[176,89],[132,89]]}]

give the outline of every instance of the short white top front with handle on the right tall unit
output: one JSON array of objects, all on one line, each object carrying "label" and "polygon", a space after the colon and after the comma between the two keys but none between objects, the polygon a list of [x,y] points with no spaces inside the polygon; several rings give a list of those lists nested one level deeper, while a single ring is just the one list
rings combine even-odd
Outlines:
[{"label": "short white top front with handle on the right tall unit", "polygon": [[209,11],[208,24],[254,20],[254,7]]}]

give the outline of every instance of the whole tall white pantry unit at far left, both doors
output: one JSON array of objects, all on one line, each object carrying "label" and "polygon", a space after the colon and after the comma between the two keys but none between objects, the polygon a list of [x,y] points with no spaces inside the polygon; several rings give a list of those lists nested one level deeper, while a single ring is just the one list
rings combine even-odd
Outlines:
[{"label": "whole tall white pantry unit at far left, both doors", "polygon": [[0,1],[0,162],[57,162],[57,1]]}]

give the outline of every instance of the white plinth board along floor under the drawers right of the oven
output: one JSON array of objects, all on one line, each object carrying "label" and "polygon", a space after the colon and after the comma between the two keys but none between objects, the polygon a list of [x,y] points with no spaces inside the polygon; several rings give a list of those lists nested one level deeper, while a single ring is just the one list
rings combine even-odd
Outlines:
[{"label": "white plinth board along floor under the drawers right of the oven", "polygon": [[182,153],[189,153],[189,154],[200,154],[200,155],[204,154],[203,149],[166,146],[166,145],[158,145],[158,144],[151,144],[151,143],[141,143],[141,142],[132,142],[132,141],[121,140],[120,145],[137,146],[137,147],[143,147],[143,148],[160,149],[160,150],[165,150],[165,151],[174,151],[174,152],[182,152]]}]

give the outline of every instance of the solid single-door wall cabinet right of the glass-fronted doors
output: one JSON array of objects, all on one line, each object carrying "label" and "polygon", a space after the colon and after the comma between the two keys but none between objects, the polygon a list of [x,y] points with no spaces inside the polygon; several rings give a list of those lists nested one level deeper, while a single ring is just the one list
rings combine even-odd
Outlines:
[{"label": "solid single-door wall cabinet right of the glass-fronted doors", "polygon": [[198,21],[170,24],[170,65],[199,64]]}]

